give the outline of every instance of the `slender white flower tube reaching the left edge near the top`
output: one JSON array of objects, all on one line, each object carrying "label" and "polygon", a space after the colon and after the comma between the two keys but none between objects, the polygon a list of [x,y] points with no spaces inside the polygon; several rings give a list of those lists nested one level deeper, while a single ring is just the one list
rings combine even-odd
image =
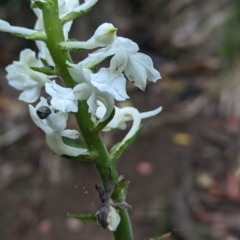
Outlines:
[{"label": "slender white flower tube reaching the left edge near the top", "polygon": [[38,31],[29,28],[11,26],[10,23],[1,19],[0,19],[0,31],[9,32],[13,34],[20,34],[24,36],[30,36],[32,34],[38,33]]}]

